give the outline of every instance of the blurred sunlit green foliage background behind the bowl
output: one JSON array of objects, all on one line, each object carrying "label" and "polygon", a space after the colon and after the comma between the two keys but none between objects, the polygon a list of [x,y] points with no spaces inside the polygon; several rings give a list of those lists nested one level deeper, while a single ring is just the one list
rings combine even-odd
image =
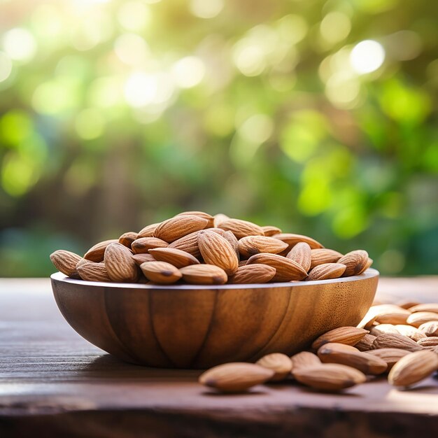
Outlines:
[{"label": "blurred sunlit green foliage background behind the bowl", "polygon": [[438,3],[0,9],[1,276],[192,209],[438,274]]}]

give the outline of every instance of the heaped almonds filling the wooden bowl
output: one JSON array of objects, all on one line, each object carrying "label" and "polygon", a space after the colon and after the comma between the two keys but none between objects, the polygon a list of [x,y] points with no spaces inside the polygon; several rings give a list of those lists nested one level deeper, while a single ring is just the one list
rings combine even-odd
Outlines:
[{"label": "heaped almonds filling the wooden bowl", "polygon": [[99,242],[83,257],[57,250],[50,259],[71,278],[165,285],[327,280],[372,264],[365,250],[342,255],[308,236],[202,211]]}]

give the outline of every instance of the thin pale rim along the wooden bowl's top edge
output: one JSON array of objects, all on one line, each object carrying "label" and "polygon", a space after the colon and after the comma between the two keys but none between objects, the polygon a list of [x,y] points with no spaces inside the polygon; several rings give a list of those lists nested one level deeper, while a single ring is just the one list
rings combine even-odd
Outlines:
[{"label": "thin pale rim along the wooden bowl's top edge", "polygon": [[288,281],[283,283],[248,283],[248,284],[224,284],[224,285],[190,285],[190,284],[178,284],[178,285],[155,285],[155,284],[143,284],[143,283],[108,283],[104,281],[85,281],[78,280],[76,278],[69,278],[62,272],[55,272],[50,276],[52,281],[59,281],[61,283],[71,283],[83,286],[94,286],[97,288],[123,288],[123,289],[144,289],[144,290],[229,290],[229,289],[262,289],[262,288],[290,288],[293,286],[299,287],[311,287],[312,285],[323,285],[332,283],[347,283],[349,281],[362,281],[369,278],[378,277],[379,271],[377,269],[369,268],[360,275],[333,278],[331,280],[313,280],[313,281]]}]

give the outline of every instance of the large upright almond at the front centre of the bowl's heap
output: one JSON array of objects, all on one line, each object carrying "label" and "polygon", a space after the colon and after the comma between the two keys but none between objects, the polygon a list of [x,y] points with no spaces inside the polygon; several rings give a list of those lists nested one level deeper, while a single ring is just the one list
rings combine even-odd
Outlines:
[{"label": "large upright almond at the front centre of the bowl's heap", "polygon": [[198,235],[198,246],[202,258],[207,264],[222,268],[227,275],[232,275],[239,267],[239,259],[227,239],[218,233],[203,231]]}]

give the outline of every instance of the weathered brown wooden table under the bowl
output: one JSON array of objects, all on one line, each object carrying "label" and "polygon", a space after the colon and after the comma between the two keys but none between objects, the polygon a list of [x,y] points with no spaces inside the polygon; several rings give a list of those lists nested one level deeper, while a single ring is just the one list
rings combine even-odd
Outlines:
[{"label": "weathered brown wooden table under the bowl", "polygon": [[[381,279],[377,299],[438,301],[438,278]],[[438,380],[341,395],[296,383],[217,395],[196,371],[120,362],[65,322],[47,279],[0,280],[0,437],[438,436]]]}]

